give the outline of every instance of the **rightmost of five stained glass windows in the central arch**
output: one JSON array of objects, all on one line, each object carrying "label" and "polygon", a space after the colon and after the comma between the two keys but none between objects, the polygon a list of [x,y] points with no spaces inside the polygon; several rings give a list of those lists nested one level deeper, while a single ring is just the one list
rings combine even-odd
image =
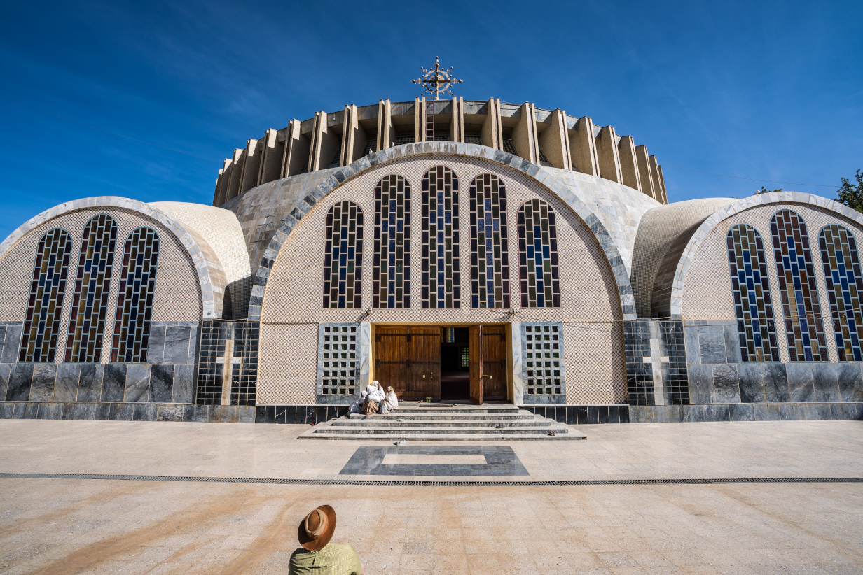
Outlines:
[{"label": "rightmost of five stained glass windows in the central arch", "polygon": [[559,308],[557,219],[542,200],[519,209],[519,272],[522,308]]}]

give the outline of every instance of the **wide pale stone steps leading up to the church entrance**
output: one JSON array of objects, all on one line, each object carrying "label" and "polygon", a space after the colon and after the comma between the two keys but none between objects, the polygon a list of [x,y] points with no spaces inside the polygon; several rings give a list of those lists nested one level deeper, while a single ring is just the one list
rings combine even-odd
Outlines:
[{"label": "wide pale stone steps leading up to the church entrance", "polygon": [[[551,433],[551,434],[550,434]],[[318,423],[301,440],[513,441],[583,440],[564,423],[509,404],[402,402],[387,416],[350,414]]]}]

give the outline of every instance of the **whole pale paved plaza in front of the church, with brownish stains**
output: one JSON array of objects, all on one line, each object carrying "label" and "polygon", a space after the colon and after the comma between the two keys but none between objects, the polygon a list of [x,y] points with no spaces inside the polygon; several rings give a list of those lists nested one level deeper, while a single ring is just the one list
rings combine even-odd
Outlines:
[{"label": "whole pale paved plaza in front of the church, with brownish stains", "polygon": [[[861,422],[579,429],[587,441],[396,447],[295,441],[306,430],[299,425],[4,420],[0,472],[501,482],[863,477]],[[482,477],[465,477],[465,468]],[[860,483],[0,478],[0,485],[3,573],[287,573],[299,519],[322,503],[338,514],[333,541],[356,547],[369,575],[863,572]]]}]

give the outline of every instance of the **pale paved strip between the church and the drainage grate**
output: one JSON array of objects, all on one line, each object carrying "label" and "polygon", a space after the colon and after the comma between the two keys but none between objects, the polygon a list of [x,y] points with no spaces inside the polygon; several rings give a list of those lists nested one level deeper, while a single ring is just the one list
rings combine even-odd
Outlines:
[{"label": "pale paved strip between the church and the drainage grate", "polygon": [[[296,441],[306,429],[0,420],[0,472],[343,479],[340,472],[358,447],[381,447],[381,441]],[[863,477],[863,422],[604,424],[576,430],[586,430],[589,440],[434,446],[509,446],[536,480]]]}]

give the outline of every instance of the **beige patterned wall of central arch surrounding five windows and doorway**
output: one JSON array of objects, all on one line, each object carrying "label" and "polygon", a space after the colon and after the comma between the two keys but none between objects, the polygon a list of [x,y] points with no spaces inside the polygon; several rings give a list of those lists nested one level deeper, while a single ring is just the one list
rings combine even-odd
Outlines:
[{"label": "beige patterned wall of central arch surrounding five windows and doorway", "polygon": [[[389,173],[404,176],[412,184],[416,205],[421,205],[422,177],[432,166],[449,167],[460,182],[482,173],[494,173],[507,186],[507,217],[517,221],[522,203],[535,198],[548,203],[557,214],[560,277],[560,308],[473,309],[462,301],[456,309],[323,309],[317,289],[323,277],[324,234],[327,211],[334,203],[356,202],[365,213],[374,213],[375,184]],[[460,213],[469,213],[468,194],[459,195]],[[461,253],[470,253],[468,226],[462,222]],[[366,226],[366,245],[373,241],[372,226]],[[412,241],[422,244],[420,226],[412,229]],[[516,242],[509,243],[509,259],[518,258]],[[417,252],[419,256],[419,249]],[[724,257],[724,256],[723,256]],[[728,277],[728,264],[723,277]],[[370,302],[371,269],[363,266],[363,301]],[[463,292],[470,278],[462,274]],[[422,300],[422,287],[413,282],[414,301]],[[514,302],[520,301],[517,285]],[[368,297],[369,299],[365,299]],[[367,304],[368,305],[368,304]],[[627,397],[626,364],[620,297],[608,259],[595,235],[560,198],[534,179],[485,159],[437,155],[432,158],[394,159],[352,178],[310,209],[281,247],[272,271],[261,312],[261,359],[259,403],[315,403],[318,323],[350,322],[563,322],[567,403],[615,403]]]}]

